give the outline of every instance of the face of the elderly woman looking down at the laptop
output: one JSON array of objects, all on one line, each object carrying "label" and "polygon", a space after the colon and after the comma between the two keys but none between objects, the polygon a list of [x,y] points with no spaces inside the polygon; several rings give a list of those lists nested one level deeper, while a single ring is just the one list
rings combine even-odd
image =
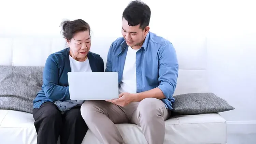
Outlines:
[{"label": "face of the elderly woman looking down at the laptop", "polygon": [[68,41],[70,47],[70,55],[77,61],[84,61],[87,58],[91,47],[91,39],[89,31],[81,31],[74,34],[74,37]]}]

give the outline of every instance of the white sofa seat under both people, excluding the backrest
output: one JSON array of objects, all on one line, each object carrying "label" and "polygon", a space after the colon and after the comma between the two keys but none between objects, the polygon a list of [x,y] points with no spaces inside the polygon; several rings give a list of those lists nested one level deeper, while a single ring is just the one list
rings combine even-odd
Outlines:
[{"label": "white sofa seat under both people, excluding the backrest", "polygon": [[[36,144],[37,133],[32,114],[0,110],[1,143]],[[179,115],[166,120],[165,144],[225,144],[226,120],[217,113]],[[134,124],[116,124],[128,144],[146,144],[141,127]],[[10,135],[12,135],[10,137]],[[11,138],[11,139],[10,139]],[[100,144],[90,130],[82,144]]]}]

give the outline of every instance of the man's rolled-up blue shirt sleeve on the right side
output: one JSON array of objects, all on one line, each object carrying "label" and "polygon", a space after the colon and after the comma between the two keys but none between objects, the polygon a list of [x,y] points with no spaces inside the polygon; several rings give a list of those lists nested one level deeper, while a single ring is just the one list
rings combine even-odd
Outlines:
[{"label": "man's rolled-up blue shirt sleeve on the right side", "polygon": [[167,43],[159,49],[159,86],[167,99],[171,99],[178,77],[179,64],[176,51],[171,43]]}]

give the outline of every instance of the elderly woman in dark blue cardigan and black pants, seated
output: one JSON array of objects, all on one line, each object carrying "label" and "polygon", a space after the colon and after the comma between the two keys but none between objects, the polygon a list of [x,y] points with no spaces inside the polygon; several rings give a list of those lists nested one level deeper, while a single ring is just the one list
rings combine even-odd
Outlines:
[{"label": "elderly woman in dark blue cardigan and black pants, seated", "polygon": [[33,100],[38,144],[81,144],[88,130],[80,113],[83,101],[70,100],[68,72],[104,71],[100,55],[89,52],[90,27],[82,19],[63,21],[62,34],[69,48],[49,55],[43,85]]}]

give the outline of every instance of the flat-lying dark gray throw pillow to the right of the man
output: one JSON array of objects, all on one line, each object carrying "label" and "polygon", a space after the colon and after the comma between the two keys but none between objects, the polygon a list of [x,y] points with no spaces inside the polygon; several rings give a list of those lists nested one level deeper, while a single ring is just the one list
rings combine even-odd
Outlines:
[{"label": "flat-lying dark gray throw pillow to the right of the man", "polygon": [[226,100],[214,93],[186,93],[173,96],[172,111],[176,114],[219,113],[234,110]]}]

